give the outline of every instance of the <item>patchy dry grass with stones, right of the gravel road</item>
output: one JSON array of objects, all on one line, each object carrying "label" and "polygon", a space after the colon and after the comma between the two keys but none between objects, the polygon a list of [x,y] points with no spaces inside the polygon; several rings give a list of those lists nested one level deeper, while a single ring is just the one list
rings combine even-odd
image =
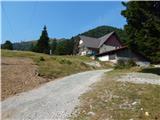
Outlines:
[{"label": "patchy dry grass with stones, right of the gravel road", "polygon": [[[135,69],[114,70],[107,73],[103,80],[92,86],[92,90],[80,97],[81,104],[75,109],[76,114],[73,114],[71,119],[159,120],[159,85],[116,81],[119,76],[134,71]],[[138,71],[137,68],[136,71]],[[132,105],[134,102],[136,104]],[[95,115],[88,115],[90,111]],[[149,116],[146,116],[145,112],[148,112]]]}]

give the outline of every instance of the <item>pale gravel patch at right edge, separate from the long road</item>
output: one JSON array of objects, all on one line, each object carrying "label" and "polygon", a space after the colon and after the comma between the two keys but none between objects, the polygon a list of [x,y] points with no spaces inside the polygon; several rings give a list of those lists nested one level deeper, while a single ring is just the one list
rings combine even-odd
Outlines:
[{"label": "pale gravel patch at right edge, separate from the long road", "polygon": [[127,81],[132,83],[147,83],[160,85],[160,76],[151,73],[128,73],[122,76],[119,81]]}]

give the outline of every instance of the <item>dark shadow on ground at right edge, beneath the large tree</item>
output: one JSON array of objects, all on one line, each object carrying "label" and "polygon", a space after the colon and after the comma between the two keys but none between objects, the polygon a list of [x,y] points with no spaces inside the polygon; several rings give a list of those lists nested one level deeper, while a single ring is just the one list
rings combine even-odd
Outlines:
[{"label": "dark shadow on ground at right edge, beneath the large tree", "polygon": [[160,68],[144,68],[140,72],[160,75]]}]

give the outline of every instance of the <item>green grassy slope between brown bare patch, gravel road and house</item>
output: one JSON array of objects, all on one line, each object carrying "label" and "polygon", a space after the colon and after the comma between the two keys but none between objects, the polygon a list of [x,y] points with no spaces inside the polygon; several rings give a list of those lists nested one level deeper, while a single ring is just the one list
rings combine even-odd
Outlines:
[{"label": "green grassy slope between brown bare patch, gravel road and house", "polygon": [[35,64],[38,65],[39,76],[47,78],[59,78],[82,71],[100,69],[86,65],[85,62],[93,61],[91,58],[86,56],[50,56],[29,51],[10,50],[1,50],[1,55],[3,57],[31,58]]}]

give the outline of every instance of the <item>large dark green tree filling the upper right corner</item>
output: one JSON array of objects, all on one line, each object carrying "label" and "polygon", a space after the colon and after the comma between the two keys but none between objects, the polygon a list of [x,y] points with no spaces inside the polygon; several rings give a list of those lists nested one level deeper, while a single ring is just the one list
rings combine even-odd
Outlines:
[{"label": "large dark green tree filling the upper right corner", "polygon": [[140,51],[153,63],[160,62],[160,2],[129,1],[122,3],[126,10],[122,15],[127,19],[125,31],[128,45]]}]

